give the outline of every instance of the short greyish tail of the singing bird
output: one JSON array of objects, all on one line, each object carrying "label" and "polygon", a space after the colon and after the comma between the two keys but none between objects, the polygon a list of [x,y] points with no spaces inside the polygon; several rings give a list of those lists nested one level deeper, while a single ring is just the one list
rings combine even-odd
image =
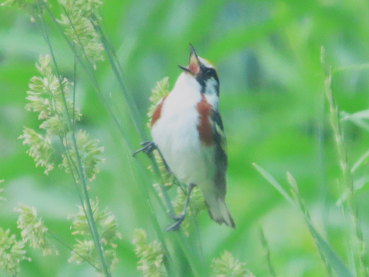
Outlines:
[{"label": "short greyish tail of the singing bird", "polygon": [[217,223],[225,223],[225,225],[232,228],[236,228],[233,218],[228,211],[227,204],[225,204],[224,199],[217,198],[214,194],[208,194],[203,191],[205,202],[208,206],[208,212],[210,218]]}]

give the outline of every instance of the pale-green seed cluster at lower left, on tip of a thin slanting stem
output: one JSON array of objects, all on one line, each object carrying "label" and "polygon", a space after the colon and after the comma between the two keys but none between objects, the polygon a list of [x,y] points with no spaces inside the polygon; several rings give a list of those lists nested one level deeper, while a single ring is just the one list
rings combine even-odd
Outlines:
[{"label": "pale-green seed cluster at lower left, on tip of a thin slanting stem", "polygon": [[[17,220],[18,229],[21,229],[21,236],[24,243],[29,243],[34,249],[42,250],[44,256],[51,255],[53,247],[46,238],[48,228],[44,226],[41,218],[37,218],[37,212],[34,207],[29,207],[19,204],[18,208],[14,209],[19,213]],[[56,252],[57,254],[57,252]]]}]

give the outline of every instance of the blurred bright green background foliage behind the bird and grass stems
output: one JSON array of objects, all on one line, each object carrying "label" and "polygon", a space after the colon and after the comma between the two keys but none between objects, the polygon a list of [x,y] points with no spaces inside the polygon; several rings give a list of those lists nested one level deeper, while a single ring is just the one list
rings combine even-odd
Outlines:
[{"label": "blurred bright green background foliage behind the bird and grass stems", "polygon": [[[61,13],[61,11],[59,11]],[[206,212],[199,215],[206,265],[224,250],[246,262],[255,276],[268,276],[257,227],[268,239],[278,276],[326,276],[313,239],[300,213],[252,167],[256,162],[282,184],[286,171],[297,180],[300,194],[320,233],[347,264],[344,219],[337,179],[341,179],[324,98],[320,47],[332,65],[332,89],[340,110],[368,109],[368,1],[104,1],[106,30],[118,51],[128,89],[134,95],[142,124],[155,82],[169,76],[172,88],[186,65],[188,43],[212,61],[220,78],[220,112],[228,139],[226,201],[237,229],[218,226]],[[56,14],[58,11],[56,10]],[[46,19],[61,73],[73,76],[73,55]],[[34,206],[45,225],[73,244],[70,222],[79,204],[70,175],[55,168],[48,176],[35,168],[17,139],[23,126],[38,128],[37,115],[27,112],[25,92],[37,74],[39,54],[48,49],[37,25],[15,7],[0,8],[0,179],[7,202],[0,206],[0,226],[17,233],[18,202]],[[346,70],[339,70],[346,68]],[[347,69],[349,68],[349,69]],[[107,95],[118,87],[107,61],[96,75]],[[113,94],[114,94],[113,93]],[[117,99],[133,146],[139,146],[124,103]],[[135,228],[155,239],[132,174],[127,147],[99,97],[79,70],[77,100],[83,113],[77,128],[101,141],[106,163],[90,184],[92,198],[115,214],[123,240],[118,243],[114,276],[140,276],[131,245]],[[344,123],[348,160],[352,165],[369,148],[369,134]],[[145,166],[148,160],[138,157]],[[368,176],[368,164],[354,178]],[[368,185],[366,185],[368,187]],[[287,188],[287,185],[286,185]],[[364,239],[369,236],[369,192],[356,197]],[[157,209],[161,227],[170,220]],[[55,242],[59,256],[42,257],[29,249],[32,262],[21,263],[20,276],[93,276],[88,265],[68,263],[69,250]],[[28,248],[27,248],[28,249]]]}]

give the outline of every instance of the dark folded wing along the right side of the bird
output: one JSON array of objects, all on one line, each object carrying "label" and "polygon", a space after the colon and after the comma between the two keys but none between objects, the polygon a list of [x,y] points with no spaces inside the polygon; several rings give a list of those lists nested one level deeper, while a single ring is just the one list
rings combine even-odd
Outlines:
[{"label": "dark folded wing along the right side of the bird", "polygon": [[224,133],[222,118],[218,110],[213,109],[211,116],[211,136],[215,142],[215,187],[218,196],[225,197],[225,172],[227,171],[227,139]]}]

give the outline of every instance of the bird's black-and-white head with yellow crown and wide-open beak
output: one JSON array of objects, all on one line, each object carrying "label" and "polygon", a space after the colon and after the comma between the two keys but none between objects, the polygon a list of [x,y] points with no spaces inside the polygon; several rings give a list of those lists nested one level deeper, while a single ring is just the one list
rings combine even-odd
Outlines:
[{"label": "bird's black-and-white head with yellow crown and wide-open beak", "polygon": [[199,82],[201,93],[215,92],[219,95],[219,79],[214,65],[206,59],[197,56],[192,44],[190,44],[190,58],[187,66],[178,66]]}]

